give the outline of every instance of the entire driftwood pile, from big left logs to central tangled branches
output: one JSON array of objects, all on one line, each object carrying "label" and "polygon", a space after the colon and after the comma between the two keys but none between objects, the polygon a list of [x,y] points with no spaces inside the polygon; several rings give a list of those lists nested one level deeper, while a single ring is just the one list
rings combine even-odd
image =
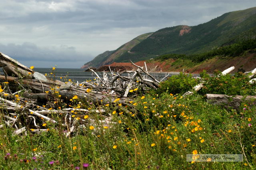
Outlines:
[{"label": "entire driftwood pile, from big left logs to central tangled branches", "polygon": [[[32,67],[28,68],[3,53],[0,53],[0,67],[4,71],[4,75],[0,75],[0,128],[15,128],[15,135],[26,134],[27,131],[40,133],[47,131],[47,123],[58,123],[66,129],[68,137],[78,127],[85,127],[85,123],[93,125],[94,119],[80,119],[93,113],[99,113],[102,125],[108,126],[111,114],[106,113],[101,108],[102,105],[116,101],[123,106],[129,105],[129,92],[138,88],[157,88],[168,76],[158,79],[150,75],[147,68],[144,70],[137,66],[135,71],[102,72],[102,77],[91,70],[96,75],[92,82],[61,82],[46,78]],[[74,100],[77,101],[76,106],[81,105],[69,108],[69,103]],[[81,109],[81,101],[86,104],[93,103],[98,108]],[[74,112],[76,117],[72,116]],[[52,115],[56,114],[62,115],[64,120],[61,122],[64,123],[53,118]]]}]

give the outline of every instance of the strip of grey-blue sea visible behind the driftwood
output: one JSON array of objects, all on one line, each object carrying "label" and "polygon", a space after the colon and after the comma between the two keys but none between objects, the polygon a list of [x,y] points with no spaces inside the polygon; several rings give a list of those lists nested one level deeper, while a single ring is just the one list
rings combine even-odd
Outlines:
[{"label": "strip of grey-blue sea visible behind the driftwood", "polygon": [[[71,79],[72,81],[76,82],[83,82],[84,80],[90,80],[94,79],[95,75],[92,75],[92,72],[84,72],[85,69],[81,68],[56,68],[54,71],[52,71],[52,68],[34,68],[36,72],[40,72],[42,74],[50,74],[51,72],[55,74],[56,80],[65,81],[68,79]],[[99,76],[101,76],[100,73],[98,73]],[[53,75],[53,74],[50,74]],[[127,74],[122,74],[127,75]],[[158,76],[159,78],[164,78],[165,73],[152,73],[154,76]],[[170,74],[169,76],[172,76],[174,74]],[[60,79],[62,77],[62,79]]]}]

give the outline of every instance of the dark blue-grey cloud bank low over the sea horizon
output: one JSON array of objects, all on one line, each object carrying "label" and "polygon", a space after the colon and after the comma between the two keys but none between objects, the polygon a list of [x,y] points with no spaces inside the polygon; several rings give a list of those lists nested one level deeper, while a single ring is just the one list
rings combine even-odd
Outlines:
[{"label": "dark blue-grey cloud bank low over the sea horizon", "polygon": [[[41,62],[48,62],[48,66],[57,63],[84,63],[84,56],[76,52],[75,47],[38,47],[34,43],[25,42],[22,45],[16,45],[10,43],[7,45],[0,44],[0,50],[4,54],[8,54],[9,57],[24,63],[30,61],[36,61],[33,65],[40,67]],[[90,59],[93,57],[87,55]],[[66,65],[68,68],[72,68],[70,65]]]}]

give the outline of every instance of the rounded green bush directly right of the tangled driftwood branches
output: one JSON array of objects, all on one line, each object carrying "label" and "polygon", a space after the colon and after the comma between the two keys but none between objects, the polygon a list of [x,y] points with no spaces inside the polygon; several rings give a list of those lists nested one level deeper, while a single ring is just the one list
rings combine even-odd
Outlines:
[{"label": "rounded green bush directly right of the tangled driftwood branches", "polygon": [[168,78],[166,81],[160,83],[160,87],[156,90],[158,94],[172,93],[183,94],[192,89],[192,87],[198,84],[198,80],[192,78],[191,74],[185,74],[180,72],[179,75],[174,75]]}]

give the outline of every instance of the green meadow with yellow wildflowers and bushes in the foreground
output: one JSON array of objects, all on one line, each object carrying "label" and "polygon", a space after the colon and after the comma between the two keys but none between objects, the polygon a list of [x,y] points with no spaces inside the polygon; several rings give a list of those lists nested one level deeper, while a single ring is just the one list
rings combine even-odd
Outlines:
[{"label": "green meadow with yellow wildflowers and bushes in the foreground", "polygon": [[[77,96],[65,104],[56,95],[49,101],[55,109],[106,112],[78,115],[73,111],[72,119],[79,123],[70,137],[64,135],[62,113],[51,113],[49,117],[58,123],[45,121],[40,127],[47,130],[38,134],[28,129],[26,135],[13,135],[14,128],[3,126],[0,169],[254,169],[256,106],[252,101],[244,101],[237,110],[214,106],[206,102],[205,94],[256,96],[256,83],[248,83],[242,73],[217,75],[203,72],[205,85],[191,96],[182,95],[199,80],[182,73],[162,82],[157,90],[132,89],[130,96],[137,96],[127,106],[118,97],[114,103],[94,105]],[[112,117],[107,124],[101,121],[106,115]],[[3,117],[2,109],[0,124]],[[244,158],[243,162],[186,162],[186,154],[243,154]]]}]

